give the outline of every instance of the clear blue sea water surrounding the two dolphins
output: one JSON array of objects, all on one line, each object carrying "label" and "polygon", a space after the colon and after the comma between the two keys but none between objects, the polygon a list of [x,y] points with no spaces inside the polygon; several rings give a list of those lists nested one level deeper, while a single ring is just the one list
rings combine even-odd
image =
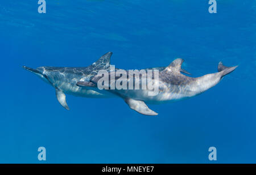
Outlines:
[{"label": "clear blue sea water surrounding the two dolphins", "polygon": [[[206,0],[46,0],[46,14],[37,2],[0,1],[0,163],[256,163],[255,1],[217,0],[217,14]],[[148,105],[157,117],[71,95],[65,110],[22,69],[88,66],[109,51],[122,69],[175,58],[195,77],[219,61],[239,67],[199,96]]]}]

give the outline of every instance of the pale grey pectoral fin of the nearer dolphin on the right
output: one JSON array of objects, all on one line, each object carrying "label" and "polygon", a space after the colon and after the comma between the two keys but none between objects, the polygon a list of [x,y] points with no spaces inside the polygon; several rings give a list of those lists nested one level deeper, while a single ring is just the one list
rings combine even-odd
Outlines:
[{"label": "pale grey pectoral fin of the nearer dolphin on the right", "polygon": [[134,99],[125,99],[127,105],[130,106],[131,109],[135,110],[138,113],[141,113],[146,116],[157,116],[158,113],[154,112],[153,110],[149,109],[148,106],[141,100],[134,100]]}]

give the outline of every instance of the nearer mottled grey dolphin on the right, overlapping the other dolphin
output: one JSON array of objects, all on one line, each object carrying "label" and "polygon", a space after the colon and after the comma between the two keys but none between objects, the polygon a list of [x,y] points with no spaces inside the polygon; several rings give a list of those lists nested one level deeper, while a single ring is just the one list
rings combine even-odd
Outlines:
[{"label": "nearer mottled grey dolphin on the right, overlapping the other dolphin", "polygon": [[[156,85],[158,85],[158,93],[156,95],[148,95],[148,92],[152,92],[153,89],[111,89],[109,84],[113,83],[109,81],[103,84],[104,89],[98,89],[98,92],[104,93],[103,91],[108,91],[121,97],[131,109],[135,110],[138,113],[147,115],[147,116],[156,116],[158,113],[154,112],[148,106],[148,104],[160,104],[166,102],[172,102],[176,100],[187,99],[189,97],[193,97],[207,91],[209,88],[216,86],[220,82],[220,80],[228,75],[230,72],[234,71],[237,66],[234,67],[226,67],[222,64],[222,62],[218,63],[218,72],[213,74],[207,74],[198,78],[193,78],[190,76],[186,76],[181,74],[181,72],[185,72],[189,74],[187,71],[181,69],[181,64],[184,62],[184,59],[177,58],[175,59],[169,66],[165,69],[159,69],[159,75],[156,79],[155,73],[152,76],[152,80]],[[129,75],[129,72],[126,70],[126,75]],[[147,74],[145,71],[144,74]],[[110,76],[110,72],[107,76]],[[103,77],[103,75],[95,75],[90,82],[93,83],[93,86],[98,86],[99,80]],[[114,83],[117,82],[119,78],[122,76],[115,76]],[[134,76],[131,76],[134,78]],[[139,77],[139,79],[135,79],[139,81],[140,87],[142,86],[143,79],[145,80],[147,75]],[[129,83],[133,84],[134,87],[134,79],[130,79],[127,76],[127,86]],[[146,80],[145,80],[146,81]],[[80,87],[88,87],[88,84],[85,82],[77,82],[77,86]]]}]

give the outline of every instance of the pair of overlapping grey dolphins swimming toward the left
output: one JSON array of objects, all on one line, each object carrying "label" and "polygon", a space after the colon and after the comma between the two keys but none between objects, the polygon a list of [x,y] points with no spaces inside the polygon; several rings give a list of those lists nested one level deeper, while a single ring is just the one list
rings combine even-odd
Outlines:
[{"label": "pair of overlapping grey dolphins swimming toward the left", "polygon": [[[221,62],[218,64],[218,72],[207,74],[199,78],[192,78],[181,74],[189,74],[181,69],[183,59],[175,59],[167,67],[155,67],[145,70],[159,70],[159,78],[154,83],[159,86],[159,93],[155,96],[148,96],[151,89],[104,89],[97,88],[100,77],[98,71],[106,70],[110,74],[110,57],[112,52],[101,56],[98,61],[88,67],[38,67],[32,69],[23,66],[42,78],[45,82],[55,88],[56,97],[59,103],[69,109],[65,93],[81,97],[106,98],[113,95],[122,97],[131,109],[147,116],[156,116],[158,113],[149,109],[146,103],[163,103],[168,101],[181,100],[199,95],[207,89],[215,86],[223,76],[234,71],[237,66],[226,67]],[[115,69],[115,71],[118,69]],[[143,80],[140,80],[140,84]],[[115,79],[115,81],[118,78]],[[128,80],[129,83],[129,80]],[[106,93],[109,91],[110,93]]]}]

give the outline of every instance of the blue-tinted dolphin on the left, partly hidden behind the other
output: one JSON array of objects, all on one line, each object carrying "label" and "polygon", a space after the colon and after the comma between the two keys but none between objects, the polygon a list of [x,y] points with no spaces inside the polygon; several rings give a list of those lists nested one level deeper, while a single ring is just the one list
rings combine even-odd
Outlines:
[{"label": "blue-tinted dolphin on the left, partly hidden behind the other", "polygon": [[[56,97],[59,103],[69,110],[66,102],[66,94],[81,96],[81,97],[92,97],[92,98],[108,98],[112,97],[111,94],[100,93],[95,91],[97,88],[81,88],[77,86],[77,82],[84,82],[86,86],[93,87],[93,83],[90,79],[97,75],[99,70],[110,71],[110,57],[112,52],[108,52],[100,57],[96,62],[88,67],[38,67],[32,69],[27,66],[22,66],[24,69],[33,72],[40,78],[50,84],[56,91]],[[149,68],[156,70],[163,70],[165,67]],[[118,69],[115,69],[118,70]]]}]

